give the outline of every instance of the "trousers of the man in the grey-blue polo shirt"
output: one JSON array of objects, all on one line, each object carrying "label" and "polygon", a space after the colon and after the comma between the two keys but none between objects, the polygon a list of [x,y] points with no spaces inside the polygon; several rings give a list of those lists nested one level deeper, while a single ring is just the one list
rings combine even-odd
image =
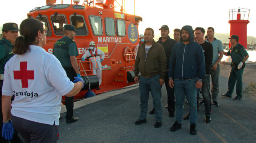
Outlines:
[{"label": "trousers of the man in the grey-blue polo shirt", "polygon": [[[213,66],[211,65],[211,68],[212,67]],[[215,71],[211,69],[210,74],[211,74],[211,90],[213,92],[211,94],[211,99],[213,101],[217,101],[217,96],[219,94],[219,74],[220,74],[219,64],[217,65],[217,69]]]}]

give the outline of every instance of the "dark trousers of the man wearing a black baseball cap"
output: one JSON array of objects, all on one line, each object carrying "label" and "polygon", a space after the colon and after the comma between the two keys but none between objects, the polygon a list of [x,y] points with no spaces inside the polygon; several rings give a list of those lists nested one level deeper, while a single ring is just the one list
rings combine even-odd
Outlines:
[{"label": "dark trousers of the man wearing a black baseball cap", "polygon": [[165,71],[165,87],[167,90],[168,112],[171,112],[171,111],[175,111],[175,97],[174,97],[174,88],[172,89],[169,86],[168,72],[169,71]]}]

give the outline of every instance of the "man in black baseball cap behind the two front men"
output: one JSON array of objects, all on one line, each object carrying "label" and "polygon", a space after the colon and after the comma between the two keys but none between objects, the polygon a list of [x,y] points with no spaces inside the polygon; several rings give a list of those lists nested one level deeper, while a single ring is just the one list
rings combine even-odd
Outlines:
[{"label": "man in black baseball cap behind the two front men", "polygon": [[[174,101],[174,89],[169,86],[169,60],[171,56],[171,51],[173,50],[173,46],[177,43],[174,39],[171,39],[169,36],[169,27],[167,25],[163,25],[159,30],[161,30],[161,37],[159,38],[158,43],[160,43],[164,50],[167,61],[166,71],[165,71],[165,87],[167,90],[167,105],[165,107],[168,108],[169,117],[174,117],[175,111],[175,101]],[[154,108],[150,111],[150,114],[154,114]]]}]

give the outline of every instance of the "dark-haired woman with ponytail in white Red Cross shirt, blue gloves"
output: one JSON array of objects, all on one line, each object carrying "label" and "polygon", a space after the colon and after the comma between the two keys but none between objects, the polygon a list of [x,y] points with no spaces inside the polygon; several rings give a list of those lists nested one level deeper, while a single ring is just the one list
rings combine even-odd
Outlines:
[{"label": "dark-haired woman with ponytail in white Red Cross shirt, blue gloves", "polygon": [[47,31],[34,18],[20,24],[2,89],[2,136],[6,139],[12,138],[15,128],[25,142],[56,143],[62,95],[74,96],[84,85],[77,77],[72,83],[59,60],[42,48]]}]

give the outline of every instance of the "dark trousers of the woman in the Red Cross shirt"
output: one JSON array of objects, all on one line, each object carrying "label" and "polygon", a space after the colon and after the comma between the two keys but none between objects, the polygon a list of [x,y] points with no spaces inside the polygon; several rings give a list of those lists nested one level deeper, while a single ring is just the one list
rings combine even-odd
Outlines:
[{"label": "dark trousers of the woman in the Red Cross shirt", "polygon": [[59,126],[33,122],[12,115],[11,117],[14,128],[26,143],[57,143]]}]

